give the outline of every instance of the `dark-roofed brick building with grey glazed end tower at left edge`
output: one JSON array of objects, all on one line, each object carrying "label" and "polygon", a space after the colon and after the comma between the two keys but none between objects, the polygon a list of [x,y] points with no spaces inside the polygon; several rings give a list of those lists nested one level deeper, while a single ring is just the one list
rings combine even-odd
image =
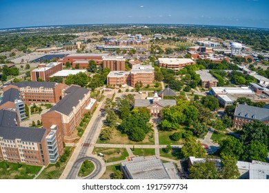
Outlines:
[{"label": "dark-roofed brick building with grey glazed end tower at left edge", "polygon": [[16,110],[19,121],[26,120],[26,110],[23,101],[21,101],[21,94],[15,88],[10,88],[3,92],[3,98],[0,102],[0,110],[2,109]]}]

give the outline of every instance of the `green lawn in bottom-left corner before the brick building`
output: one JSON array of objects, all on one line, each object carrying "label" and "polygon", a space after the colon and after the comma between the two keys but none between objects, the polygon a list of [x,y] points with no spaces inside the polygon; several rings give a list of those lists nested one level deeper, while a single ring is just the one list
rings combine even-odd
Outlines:
[{"label": "green lawn in bottom-left corner before the brick building", "polygon": [[33,179],[41,166],[0,162],[0,179]]}]

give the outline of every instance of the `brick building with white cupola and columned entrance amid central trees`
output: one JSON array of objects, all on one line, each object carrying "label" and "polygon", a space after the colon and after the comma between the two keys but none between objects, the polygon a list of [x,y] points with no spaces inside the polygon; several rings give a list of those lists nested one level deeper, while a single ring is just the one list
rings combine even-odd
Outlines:
[{"label": "brick building with white cupola and columned entrance amid central trees", "polygon": [[135,99],[135,108],[148,108],[150,110],[151,116],[160,116],[161,110],[166,107],[172,107],[177,105],[175,99],[161,99],[155,92],[153,97],[148,97],[147,99]]}]

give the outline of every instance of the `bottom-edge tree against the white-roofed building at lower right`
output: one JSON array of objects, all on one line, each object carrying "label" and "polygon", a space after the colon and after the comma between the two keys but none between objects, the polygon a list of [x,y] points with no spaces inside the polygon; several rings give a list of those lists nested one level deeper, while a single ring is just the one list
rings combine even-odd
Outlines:
[{"label": "bottom-edge tree against the white-roofed building at lower right", "polygon": [[237,159],[232,156],[222,156],[221,169],[219,171],[221,179],[238,179],[240,172],[237,167]]}]

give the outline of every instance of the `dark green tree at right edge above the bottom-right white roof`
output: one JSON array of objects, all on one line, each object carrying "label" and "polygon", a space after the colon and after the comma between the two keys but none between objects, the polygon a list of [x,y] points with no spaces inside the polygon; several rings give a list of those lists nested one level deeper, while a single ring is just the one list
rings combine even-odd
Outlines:
[{"label": "dark green tree at right edge above the bottom-right white roof", "polygon": [[251,141],[250,144],[246,146],[243,160],[266,161],[267,156],[268,149],[265,144],[260,143],[259,141]]}]

